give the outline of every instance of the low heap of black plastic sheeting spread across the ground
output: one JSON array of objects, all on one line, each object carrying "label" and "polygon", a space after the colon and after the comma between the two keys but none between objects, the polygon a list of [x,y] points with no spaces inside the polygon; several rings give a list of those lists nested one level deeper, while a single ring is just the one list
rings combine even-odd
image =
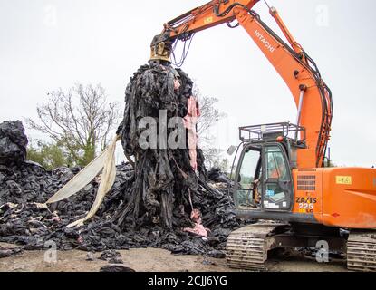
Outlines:
[{"label": "low heap of black plastic sheeting spread across the ground", "polygon": [[[53,241],[58,249],[104,251],[160,247],[175,254],[199,254],[223,257],[227,236],[244,222],[236,219],[231,208],[233,201],[227,190],[211,189],[206,183],[198,185],[193,198],[195,208],[201,210],[203,225],[211,229],[209,237],[194,237],[183,232],[192,223],[188,213],[174,211],[174,227],[161,227],[150,222],[135,226],[133,221],[117,223],[115,217],[123,212],[123,205],[130,199],[134,171],[129,164],[117,167],[116,181],[104,199],[97,215],[84,227],[66,226],[83,218],[92,207],[98,183],[92,181],[76,196],[50,207],[38,203],[53,196],[63,187],[64,180],[76,170],[46,171],[34,164],[21,167],[0,168],[0,242],[16,244],[25,250],[41,250],[46,242]],[[127,219],[126,219],[127,220]]]}]

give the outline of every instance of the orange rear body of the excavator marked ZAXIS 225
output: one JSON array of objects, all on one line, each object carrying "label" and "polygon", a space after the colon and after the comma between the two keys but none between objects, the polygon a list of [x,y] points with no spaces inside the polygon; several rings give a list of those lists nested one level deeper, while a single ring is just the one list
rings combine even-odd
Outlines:
[{"label": "orange rear body of the excavator marked ZAXIS 225", "polygon": [[376,169],[294,169],[296,214],[324,226],[376,228]]}]

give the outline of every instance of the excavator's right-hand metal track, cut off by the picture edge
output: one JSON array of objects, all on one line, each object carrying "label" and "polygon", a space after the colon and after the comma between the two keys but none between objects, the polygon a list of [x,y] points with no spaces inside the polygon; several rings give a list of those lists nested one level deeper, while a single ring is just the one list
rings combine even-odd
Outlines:
[{"label": "excavator's right-hand metal track, cut off by the picture edge", "polygon": [[376,231],[350,233],[347,268],[351,271],[376,272]]}]

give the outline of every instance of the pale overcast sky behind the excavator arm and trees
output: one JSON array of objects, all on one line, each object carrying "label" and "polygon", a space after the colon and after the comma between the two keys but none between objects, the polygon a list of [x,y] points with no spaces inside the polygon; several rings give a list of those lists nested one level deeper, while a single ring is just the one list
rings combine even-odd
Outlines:
[{"label": "pale overcast sky behind the excavator arm and trees", "polygon": [[[376,165],[374,0],[269,0],[318,64],[333,91],[330,147],[338,165]],[[121,102],[130,76],[149,59],[162,24],[200,0],[0,0],[0,121],[35,117],[47,92],[101,83]],[[255,6],[279,33],[264,2]],[[237,144],[237,127],[295,121],[293,98],[241,28],[196,34],[186,63],[200,91],[227,113],[217,145]]]}]

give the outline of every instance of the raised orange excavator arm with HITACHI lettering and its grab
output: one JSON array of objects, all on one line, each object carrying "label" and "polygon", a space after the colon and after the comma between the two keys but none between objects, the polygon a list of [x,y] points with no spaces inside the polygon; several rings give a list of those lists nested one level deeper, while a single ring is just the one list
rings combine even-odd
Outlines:
[{"label": "raised orange excavator arm with HITACHI lettering and its grab", "polygon": [[[164,24],[163,32],[151,43],[151,60],[169,61],[173,44],[188,41],[193,34],[210,27],[241,25],[275,67],[293,94],[298,108],[297,125],[305,128],[306,149],[298,150],[297,166],[310,169],[324,166],[333,118],[332,93],[316,64],[284,25],[275,8],[270,14],[288,40],[285,43],[251,10],[258,0],[213,0]],[[232,26],[232,22],[238,24]]]}]

